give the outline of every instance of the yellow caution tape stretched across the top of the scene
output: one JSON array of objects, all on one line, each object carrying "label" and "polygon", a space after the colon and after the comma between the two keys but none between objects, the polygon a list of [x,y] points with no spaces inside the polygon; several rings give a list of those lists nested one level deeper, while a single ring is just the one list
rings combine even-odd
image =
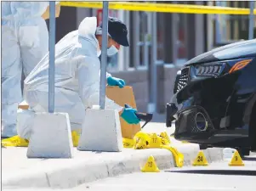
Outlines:
[{"label": "yellow caution tape stretched across the top of the scene", "polygon": [[[61,2],[61,6],[78,8],[102,8],[102,2]],[[109,9],[128,11],[162,12],[177,14],[250,14],[249,8],[228,8],[219,6],[185,5],[171,3],[110,2]],[[253,11],[256,14],[256,8]]]}]

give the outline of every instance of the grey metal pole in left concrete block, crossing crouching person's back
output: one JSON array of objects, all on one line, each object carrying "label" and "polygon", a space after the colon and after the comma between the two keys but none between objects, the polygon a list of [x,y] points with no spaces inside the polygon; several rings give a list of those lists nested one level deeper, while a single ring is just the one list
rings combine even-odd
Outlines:
[{"label": "grey metal pole in left concrete block, crossing crouching person's back", "polygon": [[55,2],[49,2],[49,68],[48,68],[48,112],[54,113],[54,85],[55,85]]}]

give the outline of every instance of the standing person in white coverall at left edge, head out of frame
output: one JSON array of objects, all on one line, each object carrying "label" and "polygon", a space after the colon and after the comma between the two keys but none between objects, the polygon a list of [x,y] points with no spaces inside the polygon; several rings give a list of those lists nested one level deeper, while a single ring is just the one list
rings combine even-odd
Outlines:
[{"label": "standing person in white coverall at left edge, head out of frame", "polygon": [[9,2],[2,6],[2,138],[17,134],[22,101],[21,74],[33,70],[48,52],[48,28],[42,14],[48,2]]}]

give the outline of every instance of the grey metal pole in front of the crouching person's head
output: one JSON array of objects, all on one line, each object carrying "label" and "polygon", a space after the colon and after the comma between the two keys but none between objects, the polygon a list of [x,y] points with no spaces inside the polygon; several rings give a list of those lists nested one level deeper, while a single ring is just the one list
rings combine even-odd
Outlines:
[{"label": "grey metal pole in front of the crouching person's head", "polygon": [[100,110],[105,109],[105,78],[107,64],[107,33],[108,33],[108,2],[103,2],[102,13],[102,46],[101,46],[101,65],[100,65]]}]

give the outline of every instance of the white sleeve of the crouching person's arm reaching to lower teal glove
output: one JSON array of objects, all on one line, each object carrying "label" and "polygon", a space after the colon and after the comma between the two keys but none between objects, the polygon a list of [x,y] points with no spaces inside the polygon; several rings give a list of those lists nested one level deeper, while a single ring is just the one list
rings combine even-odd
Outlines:
[{"label": "white sleeve of the crouching person's arm reaching to lower teal glove", "polygon": [[[82,63],[77,65],[77,70],[79,95],[85,108],[100,105],[100,60],[98,58],[84,58]],[[105,109],[119,112],[122,108],[110,98],[105,97]]]}]

